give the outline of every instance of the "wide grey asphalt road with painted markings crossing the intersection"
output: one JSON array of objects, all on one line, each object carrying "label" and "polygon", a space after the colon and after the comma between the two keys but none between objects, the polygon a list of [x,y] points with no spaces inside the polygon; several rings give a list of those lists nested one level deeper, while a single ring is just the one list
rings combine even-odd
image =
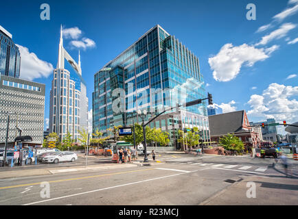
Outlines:
[{"label": "wide grey asphalt road with painted markings crossing the intersection", "polygon": [[[0,205],[199,205],[245,176],[285,177],[269,158],[179,154],[157,160],[152,166],[1,179]],[[298,179],[297,164],[291,169]]]}]

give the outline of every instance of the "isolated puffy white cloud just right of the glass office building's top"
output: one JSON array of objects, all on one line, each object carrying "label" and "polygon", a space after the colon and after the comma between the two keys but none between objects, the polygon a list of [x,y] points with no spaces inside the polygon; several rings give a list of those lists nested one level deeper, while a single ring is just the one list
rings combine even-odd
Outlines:
[{"label": "isolated puffy white cloud just right of the glass office building's top", "polygon": [[234,47],[233,44],[225,44],[217,55],[210,57],[208,62],[216,81],[231,81],[240,72],[242,64],[253,66],[255,62],[266,60],[269,55],[278,49],[277,45],[267,49],[257,49],[248,44]]}]

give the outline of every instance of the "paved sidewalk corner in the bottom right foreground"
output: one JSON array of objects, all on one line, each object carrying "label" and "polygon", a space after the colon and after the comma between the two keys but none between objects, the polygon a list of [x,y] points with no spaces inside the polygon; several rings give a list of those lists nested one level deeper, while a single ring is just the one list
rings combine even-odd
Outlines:
[{"label": "paved sidewalk corner in the bottom right foreground", "polygon": [[[248,198],[247,191],[255,183],[255,198]],[[298,205],[298,185],[296,178],[247,177],[208,198],[200,205]]]}]

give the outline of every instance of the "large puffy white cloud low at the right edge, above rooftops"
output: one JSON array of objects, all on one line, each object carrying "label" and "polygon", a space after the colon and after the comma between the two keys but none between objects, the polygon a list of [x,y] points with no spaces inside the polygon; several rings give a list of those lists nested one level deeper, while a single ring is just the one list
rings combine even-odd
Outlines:
[{"label": "large puffy white cloud low at the right edge, above rooftops", "polygon": [[284,86],[271,83],[262,95],[253,94],[249,100],[252,110],[247,112],[250,116],[275,118],[277,123],[287,120],[294,123],[298,120],[298,101],[290,99],[298,96],[298,86]]}]

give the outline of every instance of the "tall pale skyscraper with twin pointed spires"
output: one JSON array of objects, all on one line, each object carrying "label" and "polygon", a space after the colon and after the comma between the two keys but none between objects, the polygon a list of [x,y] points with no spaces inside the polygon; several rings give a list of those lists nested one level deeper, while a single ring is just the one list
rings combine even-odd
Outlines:
[{"label": "tall pale skyscraper with twin pointed spires", "polygon": [[49,133],[55,132],[63,140],[69,132],[77,142],[78,130],[88,129],[87,86],[82,78],[80,51],[77,64],[63,47],[62,27],[49,104]]}]

